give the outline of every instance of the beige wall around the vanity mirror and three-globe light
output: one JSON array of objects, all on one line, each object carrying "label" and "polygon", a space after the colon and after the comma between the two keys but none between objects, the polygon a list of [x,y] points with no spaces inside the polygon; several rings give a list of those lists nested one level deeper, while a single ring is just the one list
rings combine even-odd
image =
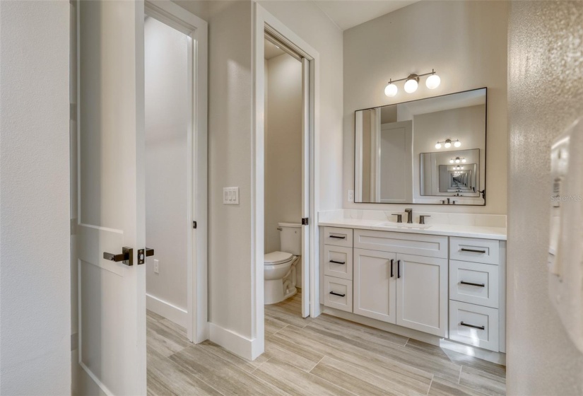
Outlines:
[{"label": "beige wall around the vanity mirror and three-globe light", "polygon": [[[505,1],[420,1],[344,32],[343,204],[353,209],[399,210],[407,205],[352,204],[354,111],[488,87],[486,206],[416,206],[416,210],[506,214],[507,12]],[[389,78],[435,69],[435,90],[424,80],[416,93],[384,95]],[[413,131],[414,134],[414,131]]]}]

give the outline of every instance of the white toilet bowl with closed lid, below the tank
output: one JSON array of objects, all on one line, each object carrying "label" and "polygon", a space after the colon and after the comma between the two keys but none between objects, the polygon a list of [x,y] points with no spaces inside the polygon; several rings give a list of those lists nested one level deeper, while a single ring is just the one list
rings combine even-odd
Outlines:
[{"label": "white toilet bowl with closed lid, below the tank", "polygon": [[299,259],[288,252],[271,252],[264,256],[264,304],[280,303],[298,292],[295,265]]}]

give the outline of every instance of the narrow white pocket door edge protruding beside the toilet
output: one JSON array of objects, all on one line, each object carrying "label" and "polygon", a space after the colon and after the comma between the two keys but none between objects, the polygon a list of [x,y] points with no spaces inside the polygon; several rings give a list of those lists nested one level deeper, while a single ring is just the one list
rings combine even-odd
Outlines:
[{"label": "narrow white pocket door edge protruding beside the toilet", "polygon": [[[302,219],[310,219],[310,61],[305,58],[302,58]],[[306,222],[302,226],[302,317],[309,315],[310,227]]]}]

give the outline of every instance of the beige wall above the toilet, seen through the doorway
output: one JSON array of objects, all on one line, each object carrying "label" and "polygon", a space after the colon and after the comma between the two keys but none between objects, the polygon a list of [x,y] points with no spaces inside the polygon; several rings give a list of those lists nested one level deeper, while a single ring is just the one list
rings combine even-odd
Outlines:
[{"label": "beige wall above the toilet, seen through the doorway", "polygon": [[265,252],[280,250],[277,223],[302,218],[302,64],[288,54],[267,64]]}]

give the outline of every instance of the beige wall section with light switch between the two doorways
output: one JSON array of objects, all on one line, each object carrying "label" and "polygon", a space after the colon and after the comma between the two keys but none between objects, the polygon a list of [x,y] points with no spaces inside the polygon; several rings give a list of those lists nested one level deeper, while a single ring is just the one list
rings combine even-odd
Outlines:
[{"label": "beige wall section with light switch between the two doorways", "polygon": [[[252,4],[208,21],[208,320],[252,337]],[[223,187],[240,205],[223,205]]]}]

